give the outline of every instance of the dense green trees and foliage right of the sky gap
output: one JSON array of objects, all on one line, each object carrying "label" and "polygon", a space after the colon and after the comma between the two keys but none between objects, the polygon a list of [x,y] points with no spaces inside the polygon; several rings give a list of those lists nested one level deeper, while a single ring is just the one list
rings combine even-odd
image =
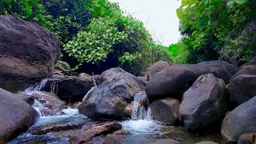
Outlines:
[{"label": "dense green trees and foliage right of the sky gap", "polygon": [[182,40],[169,48],[174,62],[222,59],[241,65],[254,56],[254,0],[182,0],[177,14]]}]

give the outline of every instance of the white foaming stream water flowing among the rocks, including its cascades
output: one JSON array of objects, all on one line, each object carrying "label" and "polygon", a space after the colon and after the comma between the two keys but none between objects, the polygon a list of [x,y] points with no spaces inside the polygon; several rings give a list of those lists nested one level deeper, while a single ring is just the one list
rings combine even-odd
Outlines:
[{"label": "white foaming stream water flowing among the rocks, including its cascades", "polygon": [[[42,92],[42,87],[46,84],[46,80],[42,80],[38,85],[31,86],[27,90],[21,93],[25,94],[45,94]],[[53,89],[54,90],[54,87]],[[54,94],[54,92],[51,92]],[[220,134],[210,134],[210,135],[194,135],[188,134],[181,126],[165,126],[161,122],[154,121],[151,118],[149,104],[145,106],[139,105],[139,102],[145,100],[142,96],[143,94],[136,94],[134,96],[134,106],[133,114],[131,119],[119,122],[122,125],[122,130],[127,130],[130,134],[123,135],[122,139],[126,143],[130,144],[144,144],[149,142],[154,142],[162,138],[170,138],[177,140],[184,144],[194,144],[195,142],[201,141],[212,141],[212,142],[222,142],[222,137]],[[47,103],[47,102],[46,102]],[[35,100],[33,107],[38,111],[39,118],[34,126],[52,124],[55,122],[79,122],[86,121],[89,123],[96,123],[96,121],[87,118],[86,116],[79,114],[78,109],[72,106],[66,106],[65,109],[61,110],[60,113],[55,115],[42,114],[42,110],[46,108],[46,103],[39,102]],[[90,143],[101,143],[104,137],[99,136],[94,138]],[[9,142],[10,144],[19,143],[69,143],[68,138],[56,137],[50,134],[34,135],[27,132],[21,134],[18,138]]]}]

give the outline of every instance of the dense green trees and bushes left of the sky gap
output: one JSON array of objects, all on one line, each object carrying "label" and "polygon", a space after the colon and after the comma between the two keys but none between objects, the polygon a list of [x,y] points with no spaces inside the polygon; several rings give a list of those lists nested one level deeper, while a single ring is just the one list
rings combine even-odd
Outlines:
[{"label": "dense green trees and bushes left of the sky gap", "polygon": [[0,14],[37,22],[61,41],[62,60],[79,72],[121,66],[139,74],[158,60],[170,61],[143,23],[107,0],[3,0]]}]

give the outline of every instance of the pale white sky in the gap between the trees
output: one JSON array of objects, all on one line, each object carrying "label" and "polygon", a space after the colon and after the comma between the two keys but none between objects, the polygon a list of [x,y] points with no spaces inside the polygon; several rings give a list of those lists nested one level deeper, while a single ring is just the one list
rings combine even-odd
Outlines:
[{"label": "pale white sky in the gap between the trees", "polygon": [[110,2],[118,2],[124,12],[142,21],[155,42],[170,46],[181,38],[176,15],[181,0],[110,0]]}]

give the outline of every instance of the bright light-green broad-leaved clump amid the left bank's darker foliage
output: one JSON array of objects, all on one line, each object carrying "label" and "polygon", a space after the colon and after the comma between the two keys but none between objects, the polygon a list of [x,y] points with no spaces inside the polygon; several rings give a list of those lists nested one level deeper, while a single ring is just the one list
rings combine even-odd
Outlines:
[{"label": "bright light-green broad-leaved clump amid the left bank's darker foliage", "polygon": [[110,18],[94,18],[87,31],[79,32],[77,37],[64,45],[64,50],[80,63],[101,62],[113,50],[115,43],[126,39],[127,34],[119,32]]}]

